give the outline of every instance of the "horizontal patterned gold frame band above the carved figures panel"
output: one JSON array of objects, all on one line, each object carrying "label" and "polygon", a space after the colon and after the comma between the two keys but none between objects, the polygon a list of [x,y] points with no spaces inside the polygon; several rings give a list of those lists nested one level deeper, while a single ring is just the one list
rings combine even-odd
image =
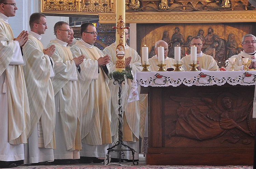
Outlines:
[{"label": "horizontal patterned gold frame band above the carved figures panel", "polygon": [[[256,22],[256,11],[126,12],[126,23]],[[99,14],[100,23],[115,23],[115,14]]]}]

